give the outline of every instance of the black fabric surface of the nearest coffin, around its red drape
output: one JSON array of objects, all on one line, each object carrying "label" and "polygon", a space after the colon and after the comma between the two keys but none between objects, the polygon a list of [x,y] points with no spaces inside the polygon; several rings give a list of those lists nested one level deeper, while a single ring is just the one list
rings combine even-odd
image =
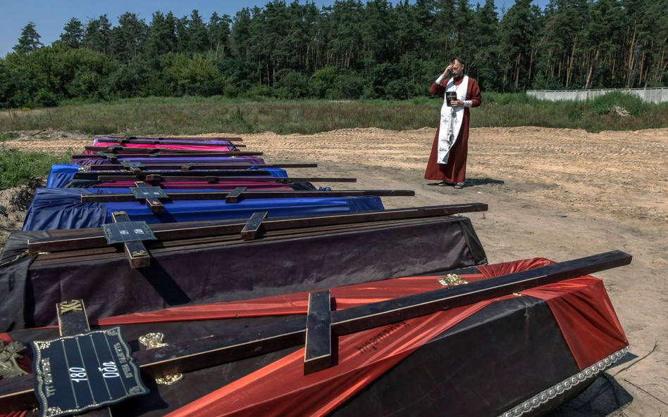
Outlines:
[{"label": "black fabric surface of the nearest coffin, around its red drape", "polygon": [[[144,323],[122,329],[137,350],[137,339],[149,332],[161,332],[166,342],[178,343],[280,323],[291,317]],[[57,335],[56,329],[9,333],[23,343]],[[116,404],[113,415],[163,416],[298,348],[186,373],[185,379],[175,385],[156,385],[144,378],[150,394]],[[433,338],[330,415],[493,417],[510,411],[513,416],[512,409],[525,403],[534,406],[525,406],[522,416],[538,415],[581,392],[625,352],[621,349],[604,355],[581,371],[548,303],[535,297],[513,297],[489,304]]]}]

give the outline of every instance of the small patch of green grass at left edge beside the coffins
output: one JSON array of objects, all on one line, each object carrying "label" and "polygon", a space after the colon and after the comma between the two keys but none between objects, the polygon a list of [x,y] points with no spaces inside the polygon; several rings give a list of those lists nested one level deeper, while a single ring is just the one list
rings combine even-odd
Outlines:
[{"label": "small patch of green grass at left edge beside the coffins", "polygon": [[54,156],[44,152],[21,152],[0,146],[0,190],[20,185],[30,185],[38,177],[46,177],[51,165],[69,162],[67,155]]}]

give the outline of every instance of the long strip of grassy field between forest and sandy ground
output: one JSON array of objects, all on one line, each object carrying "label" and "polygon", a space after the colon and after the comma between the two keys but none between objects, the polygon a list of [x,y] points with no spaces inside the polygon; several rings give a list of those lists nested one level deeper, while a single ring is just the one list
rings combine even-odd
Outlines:
[{"label": "long strip of grassy field between forest and sandy ground", "polygon": [[[70,101],[57,108],[0,112],[4,131],[63,129],[85,134],[314,134],[354,127],[407,130],[435,127],[443,100],[247,101],[223,97],[132,98],[107,103]],[[614,105],[631,116],[609,115]],[[472,127],[538,126],[570,129],[638,130],[668,127],[668,103],[607,94],[592,101],[540,101],[526,94],[483,94],[472,110]],[[1,140],[1,139],[0,139]]]}]

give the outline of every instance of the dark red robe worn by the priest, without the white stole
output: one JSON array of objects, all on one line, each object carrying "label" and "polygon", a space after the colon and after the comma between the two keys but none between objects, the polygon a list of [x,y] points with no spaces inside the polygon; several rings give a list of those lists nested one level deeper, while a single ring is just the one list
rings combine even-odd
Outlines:
[{"label": "dark red robe worn by the priest, without the white stole", "polygon": [[[464,77],[454,79],[454,85],[462,83]],[[450,79],[444,79],[440,84],[432,84],[429,92],[435,96],[445,96],[445,86],[450,82]],[[480,95],[480,87],[478,82],[469,77],[469,87],[466,89],[466,100],[471,100],[473,105],[471,107],[478,107],[483,97]],[[464,108],[464,119],[462,120],[462,128],[459,129],[457,141],[450,149],[450,155],[447,158],[447,164],[436,163],[436,154],[438,153],[438,129],[440,123],[436,128],[436,136],[434,138],[433,146],[431,147],[431,155],[429,155],[429,162],[427,162],[427,169],[424,172],[424,179],[435,179],[437,181],[449,181],[453,183],[464,182],[466,178],[466,153],[469,150],[469,119],[471,113],[469,108]]]}]

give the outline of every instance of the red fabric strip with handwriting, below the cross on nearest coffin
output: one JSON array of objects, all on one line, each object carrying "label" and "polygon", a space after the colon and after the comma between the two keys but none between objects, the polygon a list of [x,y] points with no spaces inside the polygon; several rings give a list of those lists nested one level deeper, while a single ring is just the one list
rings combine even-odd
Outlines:
[{"label": "red fabric strip with handwriting, below the cross on nearest coffin", "polygon": [[169,417],[325,416],[488,300],[338,339],[336,366],[304,376],[304,349],[184,406]]}]

